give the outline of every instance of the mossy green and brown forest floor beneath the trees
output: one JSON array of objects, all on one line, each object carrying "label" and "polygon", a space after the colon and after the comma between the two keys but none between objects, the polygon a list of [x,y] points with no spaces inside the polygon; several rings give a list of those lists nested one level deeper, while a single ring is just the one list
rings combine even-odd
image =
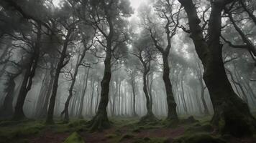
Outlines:
[{"label": "mossy green and brown forest floor beneath the trees", "polygon": [[[209,124],[210,117],[183,122],[160,122],[138,124],[139,118],[110,118],[112,127],[102,132],[88,132],[86,120],[72,119],[63,124],[60,120],[54,125],[44,121],[24,120],[23,122],[0,121],[0,143],[89,143],[89,142],[188,142],[188,143],[255,143],[254,137],[234,138],[220,136]],[[72,135],[70,135],[72,134]],[[68,138],[68,139],[67,139]],[[71,140],[71,142],[70,142]],[[201,140],[198,142],[198,140]]]}]

